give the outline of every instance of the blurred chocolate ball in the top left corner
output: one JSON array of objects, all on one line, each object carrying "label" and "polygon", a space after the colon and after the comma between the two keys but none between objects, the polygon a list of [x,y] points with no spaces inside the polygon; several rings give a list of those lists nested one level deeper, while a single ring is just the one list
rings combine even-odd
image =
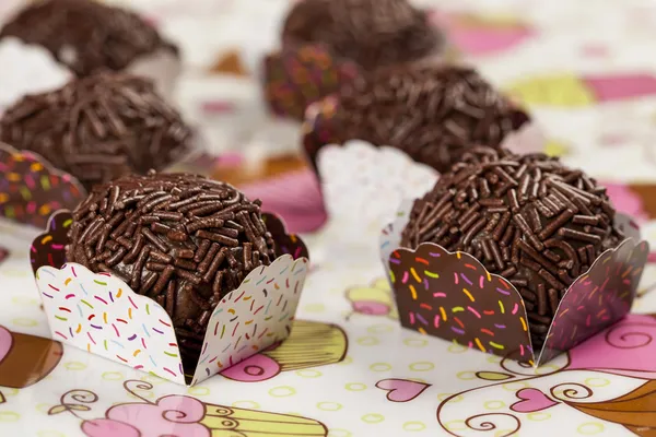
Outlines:
[{"label": "blurred chocolate ball in the top left corner", "polygon": [[31,2],[2,31],[37,44],[80,76],[103,69],[122,70],[159,49],[177,56],[177,48],[139,15],[91,0]]}]

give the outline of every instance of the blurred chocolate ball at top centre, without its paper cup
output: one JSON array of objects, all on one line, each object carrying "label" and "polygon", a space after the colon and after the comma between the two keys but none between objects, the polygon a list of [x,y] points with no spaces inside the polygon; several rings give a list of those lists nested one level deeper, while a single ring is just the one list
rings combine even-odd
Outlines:
[{"label": "blurred chocolate ball at top centre, without its paper cup", "polygon": [[407,0],[302,0],[286,16],[283,45],[323,44],[364,70],[440,54],[442,35]]}]

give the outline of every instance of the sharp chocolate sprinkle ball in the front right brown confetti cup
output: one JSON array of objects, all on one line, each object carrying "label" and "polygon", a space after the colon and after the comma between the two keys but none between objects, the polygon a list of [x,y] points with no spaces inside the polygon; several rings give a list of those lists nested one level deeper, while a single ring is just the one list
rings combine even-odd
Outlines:
[{"label": "sharp chocolate sprinkle ball in the front right brown confetti cup", "polygon": [[538,349],[567,287],[623,239],[614,213],[605,188],[558,158],[476,147],[414,202],[401,246],[468,252],[508,280]]}]

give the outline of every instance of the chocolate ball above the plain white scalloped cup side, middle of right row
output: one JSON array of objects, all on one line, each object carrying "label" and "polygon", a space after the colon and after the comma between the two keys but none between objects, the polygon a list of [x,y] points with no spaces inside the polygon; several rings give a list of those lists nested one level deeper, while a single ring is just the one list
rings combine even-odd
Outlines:
[{"label": "chocolate ball above the plain white scalloped cup side, middle of right row", "polygon": [[529,119],[475,70],[453,66],[379,70],[318,105],[304,139],[313,161],[325,144],[364,140],[438,172],[473,145],[500,145]]}]

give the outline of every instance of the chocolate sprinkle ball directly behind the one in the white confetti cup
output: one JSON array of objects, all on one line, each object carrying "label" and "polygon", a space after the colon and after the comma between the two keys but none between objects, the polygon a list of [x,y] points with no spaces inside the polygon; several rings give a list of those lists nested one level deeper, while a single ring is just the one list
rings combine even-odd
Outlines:
[{"label": "chocolate sprinkle ball directly behind the one in the white confetti cup", "polygon": [[102,72],[19,101],[0,119],[0,141],[43,155],[89,189],[165,168],[191,150],[192,132],[151,81]]}]

